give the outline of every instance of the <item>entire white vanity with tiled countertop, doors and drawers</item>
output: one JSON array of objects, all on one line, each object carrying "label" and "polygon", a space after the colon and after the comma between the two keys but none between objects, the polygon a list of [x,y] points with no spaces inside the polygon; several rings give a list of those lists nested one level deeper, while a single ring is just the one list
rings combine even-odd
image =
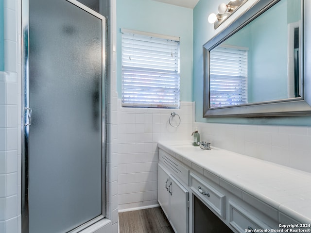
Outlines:
[{"label": "entire white vanity with tiled countertop, doors and drawers", "polygon": [[286,226],[294,230],[305,225],[300,229],[310,231],[309,207],[293,205],[305,196],[291,194],[302,177],[310,183],[311,175],[227,150],[184,144],[189,146],[158,143],[158,201],[176,233],[285,232]]}]

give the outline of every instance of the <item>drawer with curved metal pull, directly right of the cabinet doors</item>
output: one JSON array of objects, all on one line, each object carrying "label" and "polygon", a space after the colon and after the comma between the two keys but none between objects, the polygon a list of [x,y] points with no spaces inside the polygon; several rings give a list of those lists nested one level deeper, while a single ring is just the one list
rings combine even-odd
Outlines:
[{"label": "drawer with curved metal pull, directly right of the cabinet doors", "polygon": [[196,194],[210,209],[225,219],[225,195],[190,173],[190,186]]}]

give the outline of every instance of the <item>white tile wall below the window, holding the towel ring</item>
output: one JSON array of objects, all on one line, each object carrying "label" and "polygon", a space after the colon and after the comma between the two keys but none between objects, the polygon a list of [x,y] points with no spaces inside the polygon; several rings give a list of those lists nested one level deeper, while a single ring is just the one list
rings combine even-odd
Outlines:
[{"label": "white tile wall below the window, holding the towel ring", "polygon": [[[181,102],[178,110],[118,107],[118,193],[119,210],[157,205],[159,140],[190,140],[192,102]],[[170,126],[171,113],[181,123]],[[175,116],[172,123],[178,123]],[[176,121],[176,122],[175,122]]]}]

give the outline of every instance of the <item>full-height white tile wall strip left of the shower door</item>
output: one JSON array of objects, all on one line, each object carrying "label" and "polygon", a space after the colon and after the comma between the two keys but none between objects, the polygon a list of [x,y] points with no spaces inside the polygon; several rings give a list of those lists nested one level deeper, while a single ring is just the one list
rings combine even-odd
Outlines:
[{"label": "full-height white tile wall strip left of the shower door", "polygon": [[[0,232],[20,233],[20,184],[21,142],[18,131],[21,125],[18,118],[18,65],[21,54],[18,53],[20,16],[17,16],[17,0],[4,0],[4,59],[5,72],[0,72]],[[19,144],[18,144],[19,143]]]}]

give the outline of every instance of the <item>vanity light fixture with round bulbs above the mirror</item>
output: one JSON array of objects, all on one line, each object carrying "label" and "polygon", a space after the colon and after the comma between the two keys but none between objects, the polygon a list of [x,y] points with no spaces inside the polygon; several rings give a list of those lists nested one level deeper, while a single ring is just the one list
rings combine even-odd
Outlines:
[{"label": "vanity light fixture with round bulbs above the mirror", "polygon": [[214,29],[216,29],[220,24],[222,24],[225,19],[233,14],[240,6],[242,6],[247,0],[230,0],[229,3],[221,3],[218,6],[218,14],[211,13],[208,16],[208,22],[214,24]]}]

